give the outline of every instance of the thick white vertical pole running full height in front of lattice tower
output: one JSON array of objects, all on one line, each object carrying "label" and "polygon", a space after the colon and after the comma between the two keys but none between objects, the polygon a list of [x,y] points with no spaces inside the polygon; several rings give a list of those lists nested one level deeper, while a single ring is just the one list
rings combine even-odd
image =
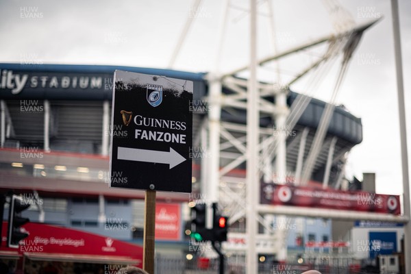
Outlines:
[{"label": "thick white vertical pole running full height in front of lattice tower", "polygon": [[257,0],[250,0],[250,76],[247,88],[247,273],[258,273],[256,214],[260,178],[258,176],[258,135],[260,127],[257,90]]}]

